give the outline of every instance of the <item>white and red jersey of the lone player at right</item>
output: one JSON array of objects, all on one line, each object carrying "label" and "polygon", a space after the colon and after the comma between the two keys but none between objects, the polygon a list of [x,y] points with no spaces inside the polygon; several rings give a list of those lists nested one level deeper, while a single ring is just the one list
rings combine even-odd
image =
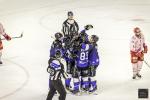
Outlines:
[{"label": "white and red jersey of the lone player at right", "polygon": [[130,41],[130,51],[132,52],[142,52],[144,50],[145,38],[141,34],[140,37],[132,36]]}]

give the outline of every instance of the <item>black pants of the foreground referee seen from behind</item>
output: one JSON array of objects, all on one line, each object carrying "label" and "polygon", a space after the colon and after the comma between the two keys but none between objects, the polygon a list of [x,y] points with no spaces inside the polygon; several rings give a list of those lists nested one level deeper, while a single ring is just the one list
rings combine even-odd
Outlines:
[{"label": "black pants of the foreground referee seen from behind", "polygon": [[58,91],[58,93],[60,94],[59,100],[66,99],[66,90],[62,84],[62,81],[58,79],[58,80],[51,80],[50,90],[48,92],[48,96],[46,100],[52,100],[56,91]]}]

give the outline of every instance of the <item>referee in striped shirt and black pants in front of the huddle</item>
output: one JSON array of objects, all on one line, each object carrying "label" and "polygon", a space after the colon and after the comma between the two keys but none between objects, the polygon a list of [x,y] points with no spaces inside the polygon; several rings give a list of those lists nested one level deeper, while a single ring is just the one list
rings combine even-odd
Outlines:
[{"label": "referee in striped shirt and black pants in front of the huddle", "polygon": [[67,78],[67,74],[64,71],[64,65],[60,61],[61,52],[57,50],[55,52],[55,56],[49,59],[49,66],[47,68],[47,72],[50,73],[50,90],[46,100],[52,100],[56,91],[60,94],[59,100],[66,99],[66,90],[62,84],[61,76],[65,79]]}]

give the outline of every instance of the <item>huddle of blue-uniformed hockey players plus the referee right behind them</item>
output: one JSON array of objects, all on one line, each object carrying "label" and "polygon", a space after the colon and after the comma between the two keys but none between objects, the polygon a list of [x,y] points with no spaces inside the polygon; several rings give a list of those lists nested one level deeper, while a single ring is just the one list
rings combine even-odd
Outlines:
[{"label": "huddle of blue-uniformed hockey players plus the referee right behind them", "polygon": [[55,33],[55,40],[50,49],[50,58],[56,51],[66,62],[65,86],[73,94],[80,92],[93,93],[97,90],[95,80],[96,69],[99,66],[97,50],[97,35],[89,36],[86,31],[93,28],[85,25],[81,32],[77,22],[73,19],[73,12],[68,12],[68,19],[64,21],[62,33]]}]

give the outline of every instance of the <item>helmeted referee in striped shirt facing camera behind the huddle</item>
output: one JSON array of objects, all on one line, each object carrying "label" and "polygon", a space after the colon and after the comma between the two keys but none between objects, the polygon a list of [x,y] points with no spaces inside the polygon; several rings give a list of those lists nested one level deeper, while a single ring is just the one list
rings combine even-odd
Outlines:
[{"label": "helmeted referee in striped shirt facing camera behind the huddle", "polygon": [[62,26],[62,32],[64,34],[64,37],[68,35],[72,38],[74,34],[78,34],[79,26],[78,23],[73,19],[72,11],[68,12],[68,18],[63,22]]}]

